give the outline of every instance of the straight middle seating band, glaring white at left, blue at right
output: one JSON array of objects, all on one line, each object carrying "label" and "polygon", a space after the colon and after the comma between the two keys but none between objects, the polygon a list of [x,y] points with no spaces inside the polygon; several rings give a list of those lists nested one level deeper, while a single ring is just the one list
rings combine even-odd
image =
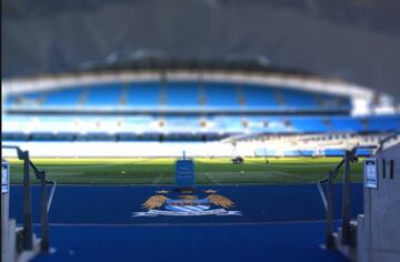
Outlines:
[{"label": "straight middle seating band, glaring white at left, blue at right", "polygon": [[352,117],[84,117],[4,115],[3,132],[326,133],[400,130],[400,115]]}]

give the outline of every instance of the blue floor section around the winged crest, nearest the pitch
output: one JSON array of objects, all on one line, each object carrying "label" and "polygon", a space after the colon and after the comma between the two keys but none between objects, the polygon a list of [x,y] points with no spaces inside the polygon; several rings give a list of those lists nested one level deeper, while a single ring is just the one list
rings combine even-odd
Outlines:
[{"label": "blue floor section around the winged crest, nearest the pitch", "polygon": [[[314,184],[198,187],[199,198],[214,190],[229,198],[240,211],[240,216],[154,216],[132,218],[133,212],[146,211],[142,204],[158,191],[176,199],[181,193],[172,187],[58,187],[50,211],[51,223],[62,224],[143,224],[143,223],[239,223],[324,220],[321,196]],[[22,219],[21,187],[11,189],[11,216]],[[39,188],[33,188],[33,203],[39,203]],[[336,218],[340,218],[341,188],[336,188]],[[352,185],[352,214],[362,213],[362,184]],[[34,206],[33,220],[39,222],[39,206]]]}]

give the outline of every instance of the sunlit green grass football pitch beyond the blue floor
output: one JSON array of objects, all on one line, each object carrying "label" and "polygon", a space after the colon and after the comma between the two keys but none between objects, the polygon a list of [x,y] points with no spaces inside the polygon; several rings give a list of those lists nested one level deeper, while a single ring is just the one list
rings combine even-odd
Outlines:
[{"label": "sunlit green grass football pitch beyond the blue floor", "polygon": [[[11,183],[22,182],[22,162],[11,162]],[[32,159],[48,179],[62,184],[173,184],[174,158],[40,158]],[[333,169],[340,158],[194,158],[197,184],[314,183]],[[33,171],[31,171],[33,175]],[[341,177],[341,173],[340,173]],[[341,178],[337,181],[341,182]],[[362,181],[362,160],[351,164],[351,180]],[[32,179],[32,182],[37,180]]]}]

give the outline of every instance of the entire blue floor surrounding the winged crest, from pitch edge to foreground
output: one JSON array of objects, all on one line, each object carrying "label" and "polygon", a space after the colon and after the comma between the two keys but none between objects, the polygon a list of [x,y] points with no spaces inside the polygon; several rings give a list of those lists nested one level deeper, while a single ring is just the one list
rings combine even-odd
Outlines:
[{"label": "entire blue floor surrounding the winged crest, from pitch edge to foreground", "polygon": [[[19,222],[21,190],[11,188],[11,215]],[[39,188],[32,194],[39,203]],[[152,195],[182,194],[172,187],[59,187],[50,212],[56,252],[37,261],[346,261],[320,248],[324,210],[314,184],[198,187],[191,193],[222,195],[233,205],[210,209],[241,215],[132,215],[148,212],[142,204]],[[336,218],[340,196],[338,185]],[[362,184],[352,185],[352,211],[362,213]]]}]

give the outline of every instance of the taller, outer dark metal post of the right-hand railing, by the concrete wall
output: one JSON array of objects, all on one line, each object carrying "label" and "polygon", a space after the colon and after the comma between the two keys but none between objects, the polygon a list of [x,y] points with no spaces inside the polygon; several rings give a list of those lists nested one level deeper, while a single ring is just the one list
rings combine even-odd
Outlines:
[{"label": "taller, outer dark metal post of the right-hand railing, by the concrete wall", "polygon": [[342,229],[342,244],[350,243],[350,161],[351,152],[346,151],[344,154],[344,173],[343,173],[343,191],[342,191],[342,214],[341,214],[341,229]]}]

